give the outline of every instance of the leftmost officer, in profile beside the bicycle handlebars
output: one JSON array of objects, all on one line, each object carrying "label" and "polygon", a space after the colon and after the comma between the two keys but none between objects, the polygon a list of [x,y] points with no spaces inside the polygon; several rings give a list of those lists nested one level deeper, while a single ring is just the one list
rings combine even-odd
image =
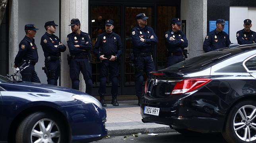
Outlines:
[{"label": "leftmost officer, in profile beside the bicycle handlebars", "polygon": [[23,60],[28,66],[21,71],[22,81],[29,81],[33,83],[41,83],[35,72],[35,64],[38,62],[37,46],[35,45],[35,34],[38,28],[35,28],[34,24],[25,25],[26,36],[19,43],[19,52],[14,60],[14,67],[17,68],[23,64]]}]

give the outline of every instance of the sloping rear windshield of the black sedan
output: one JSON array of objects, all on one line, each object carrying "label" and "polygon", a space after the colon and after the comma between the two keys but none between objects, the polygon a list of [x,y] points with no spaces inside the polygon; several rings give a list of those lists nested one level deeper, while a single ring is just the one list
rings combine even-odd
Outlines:
[{"label": "sloping rear windshield of the black sedan", "polygon": [[193,58],[189,58],[172,66],[169,68],[178,68],[178,69],[202,69],[205,66],[210,64],[217,63],[227,57],[234,55],[233,51],[212,51],[208,53],[201,54],[199,56],[195,56]]}]

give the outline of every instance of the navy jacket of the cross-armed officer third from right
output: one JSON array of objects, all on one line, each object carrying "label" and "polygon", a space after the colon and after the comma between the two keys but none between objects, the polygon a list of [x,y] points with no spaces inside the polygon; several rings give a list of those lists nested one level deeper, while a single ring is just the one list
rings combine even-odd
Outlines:
[{"label": "navy jacket of the cross-armed officer third from right", "polygon": [[[175,40],[170,40],[171,37]],[[184,48],[188,47],[186,35],[180,30],[178,32],[172,30],[165,32],[165,43],[168,51],[173,53],[182,53]]]}]

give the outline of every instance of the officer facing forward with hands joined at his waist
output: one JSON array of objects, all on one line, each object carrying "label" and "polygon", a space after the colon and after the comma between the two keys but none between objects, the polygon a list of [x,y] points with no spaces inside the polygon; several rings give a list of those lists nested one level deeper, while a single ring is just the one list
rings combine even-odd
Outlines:
[{"label": "officer facing forward with hands joined at his waist", "polygon": [[107,76],[110,70],[111,76],[111,94],[112,102],[114,106],[119,106],[116,96],[118,93],[118,74],[119,74],[119,63],[121,55],[123,53],[123,45],[120,36],[114,33],[114,21],[108,19],[105,22],[106,31],[97,36],[95,47],[93,49],[94,54],[101,60],[100,63],[100,87],[99,95],[100,102],[103,107],[107,104],[104,100],[104,94],[106,93]]}]

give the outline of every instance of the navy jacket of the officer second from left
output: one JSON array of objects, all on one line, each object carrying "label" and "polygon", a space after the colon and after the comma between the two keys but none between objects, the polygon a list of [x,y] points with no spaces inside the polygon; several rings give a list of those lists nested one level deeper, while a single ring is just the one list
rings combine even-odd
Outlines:
[{"label": "navy jacket of the officer second from left", "polygon": [[60,39],[54,34],[45,34],[41,38],[40,45],[43,48],[45,57],[47,56],[60,56],[60,52],[66,50],[65,45],[59,45]]}]

